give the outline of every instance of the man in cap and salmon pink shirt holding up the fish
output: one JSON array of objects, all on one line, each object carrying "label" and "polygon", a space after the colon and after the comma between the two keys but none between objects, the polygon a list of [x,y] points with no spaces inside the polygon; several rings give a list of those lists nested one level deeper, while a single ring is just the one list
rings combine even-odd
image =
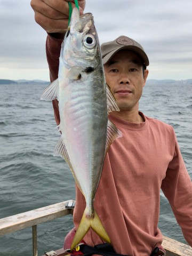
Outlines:
[{"label": "man in cap and salmon pink shirt holding up the fish", "polygon": [[[79,1],[79,5],[82,13],[85,1]],[[64,0],[32,0],[31,6],[37,23],[51,33],[47,36],[46,53],[53,81],[58,76],[62,43],[59,38],[63,38],[63,28],[68,25],[68,3]],[[170,125],[139,112],[139,99],[148,76],[147,54],[140,44],[126,36],[103,44],[101,50],[106,82],[120,109],[109,118],[123,137],[109,148],[95,195],[95,211],[116,253],[164,255],[162,234],[158,229],[162,188],[183,235],[192,246],[192,185],[174,131]],[[57,101],[53,101],[53,108],[59,124]],[[77,188],[75,229],[84,209],[85,200]],[[70,247],[75,229],[66,238],[66,249]],[[90,246],[103,243],[92,230],[82,242]]]}]

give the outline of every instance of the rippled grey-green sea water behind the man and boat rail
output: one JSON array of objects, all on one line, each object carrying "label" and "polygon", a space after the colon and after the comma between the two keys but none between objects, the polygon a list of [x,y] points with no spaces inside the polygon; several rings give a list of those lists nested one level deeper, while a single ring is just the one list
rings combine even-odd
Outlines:
[{"label": "rippled grey-green sea water behind the man and boat rail", "polygon": [[[41,84],[0,85],[0,218],[75,199],[75,182],[67,164],[53,151],[60,134],[51,102],[40,101]],[[192,84],[149,81],[140,110],[171,124],[192,178]],[[57,250],[73,227],[71,215],[37,226],[38,255]],[[186,243],[161,192],[159,228]],[[1,256],[32,255],[31,228],[0,237]]]}]

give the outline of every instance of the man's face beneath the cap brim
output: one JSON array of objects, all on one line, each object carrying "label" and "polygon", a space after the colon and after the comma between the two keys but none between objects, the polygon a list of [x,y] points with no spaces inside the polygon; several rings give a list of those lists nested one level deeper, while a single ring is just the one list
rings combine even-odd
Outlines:
[{"label": "man's face beneath the cap brim", "polygon": [[148,70],[142,70],[139,55],[133,51],[117,52],[104,65],[106,82],[114,94],[120,110],[139,108],[139,99],[145,86]]}]

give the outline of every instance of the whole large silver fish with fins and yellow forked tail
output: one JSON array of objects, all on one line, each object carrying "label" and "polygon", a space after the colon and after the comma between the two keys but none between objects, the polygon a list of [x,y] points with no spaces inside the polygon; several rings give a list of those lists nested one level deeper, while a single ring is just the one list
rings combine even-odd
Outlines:
[{"label": "whole large silver fish with fins and yellow forked tail", "polygon": [[58,79],[45,89],[41,99],[59,100],[61,131],[54,155],[68,163],[85,197],[86,209],[71,250],[90,227],[106,242],[110,238],[93,208],[103,161],[114,139],[121,137],[108,120],[109,111],[119,111],[106,86],[93,16],[79,17],[75,7],[61,46]]}]

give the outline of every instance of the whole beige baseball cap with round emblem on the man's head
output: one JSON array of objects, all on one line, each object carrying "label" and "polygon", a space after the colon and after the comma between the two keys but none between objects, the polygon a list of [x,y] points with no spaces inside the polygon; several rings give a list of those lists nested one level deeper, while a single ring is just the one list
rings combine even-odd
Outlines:
[{"label": "whole beige baseball cap with round emblem on the man's head", "polygon": [[106,64],[116,52],[123,49],[136,52],[143,60],[143,64],[149,66],[149,59],[143,47],[127,36],[119,36],[114,41],[103,43],[101,45],[103,64]]}]

